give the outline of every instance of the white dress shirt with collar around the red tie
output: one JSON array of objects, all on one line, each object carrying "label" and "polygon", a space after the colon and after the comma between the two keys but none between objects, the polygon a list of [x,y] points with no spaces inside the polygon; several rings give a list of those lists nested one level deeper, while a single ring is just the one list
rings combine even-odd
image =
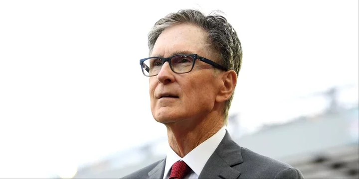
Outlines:
[{"label": "white dress shirt with collar around the red tie", "polygon": [[222,127],[217,133],[199,144],[183,158],[180,158],[169,146],[166,156],[164,179],[170,178],[170,170],[172,166],[180,160],[184,161],[191,168],[191,171],[186,176],[184,176],[184,179],[198,179],[198,176],[202,172],[204,165],[207,163],[209,157],[213,154],[219,143],[222,141],[225,133],[225,127]]}]

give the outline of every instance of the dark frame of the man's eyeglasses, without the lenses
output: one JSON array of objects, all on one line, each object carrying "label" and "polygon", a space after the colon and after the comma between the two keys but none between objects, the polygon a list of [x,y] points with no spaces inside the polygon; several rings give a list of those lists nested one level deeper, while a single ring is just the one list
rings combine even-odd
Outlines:
[{"label": "dark frame of the man's eyeglasses, without the lenses", "polygon": [[[174,69],[172,68],[171,59],[174,58],[174,57],[177,57],[177,56],[181,56],[181,55],[190,56],[190,57],[192,57],[192,59],[193,59],[192,67],[191,67],[191,69],[190,69],[188,72],[179,73],[179,72],[175,72]],[[164,57],[149,57],[149,58],[141,59],[141,60],[140,60],[141,70],[142,70],[142,73],[143,73],[146,77],[154,77],[154,76],[158,75],[158,74],[156,74],[156,75],[146,75],[145,72],[144,72],[144,68],[146,68],[146,71],[147,71],[148,73],[149,73],[149,71],[150,71],[150,67],[148,67],[146,64],[144,64],[144,62],[145,62],[146,60],[152,59],[152,58],[161,59],[161,60],[162,60],[162,64],[165,64],[165,62],[168,62],[168,63],[170,64],[171,70],[172,70],[174,73],[177,73],[177,74],[185,74],[185,73],[191,72],[192,69],[193,69],[193,67],[194,67],[194,63],[195,63],[195,61],[196,61],[197,59],[200,60],[200,61],[202,61],[202,62],[204,62],[204,63],[207,63],[207,64],[209,64],[209,65],[212,65],[213,67],[215,67],[215,68],[217,68],[217,69],[220,69],[220,70],[223,70],[223,71],[228,71],[227,68],[225,68],[225,67],[223,67],[223,66],[221,66],[221,65],[219,65],[219,64],[217,64],[217,63],[215,63],[215,62],[213,62],[213,61],[211,61],[211,60],[209,60],[209,59],[206,59],[206,58],[204,58],[204,57],[201,57],[201,56],[199,56],[199,55],[197,55],[197,54],[178,54],[178,55],[174,55],[174,56],[168,57],[168,58],[164,58]],[[144,65],[145,65],[146,67],[144,67]],[[161,67],[161,68],[162,68],[162,67]]]}]

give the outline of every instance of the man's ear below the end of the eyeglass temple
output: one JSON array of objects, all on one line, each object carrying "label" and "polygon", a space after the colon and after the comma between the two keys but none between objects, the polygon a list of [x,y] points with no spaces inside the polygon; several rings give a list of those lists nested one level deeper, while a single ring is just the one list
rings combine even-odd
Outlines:
[{"label": "man's ear below the end of the eyeglass temple", "polygon": [[237,85],[237,74],[233,71],[227,71],[222,74],[221,84],[218,94],[216,96],[216,102],[223,102],[228,100]]}]

